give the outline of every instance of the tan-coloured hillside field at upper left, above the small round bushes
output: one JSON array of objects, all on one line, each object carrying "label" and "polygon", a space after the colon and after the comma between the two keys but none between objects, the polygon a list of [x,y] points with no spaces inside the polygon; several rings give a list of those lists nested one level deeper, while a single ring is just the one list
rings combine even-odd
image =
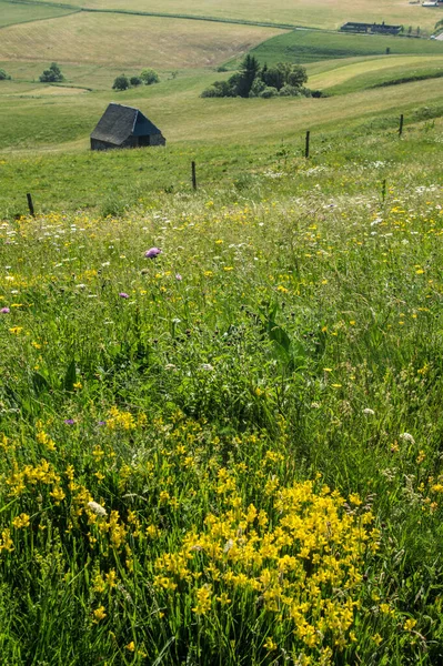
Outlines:
[{"label": "tan-coloured hillside field at upper left, above the small round bushes", "polygon": [[40,21],[38,28],[26,23],[3,29],[0,59],[44,61],[50,53],[60,63],[185,69],[220,64],[273,34],[273,29],[246,26],[74,13]]}]

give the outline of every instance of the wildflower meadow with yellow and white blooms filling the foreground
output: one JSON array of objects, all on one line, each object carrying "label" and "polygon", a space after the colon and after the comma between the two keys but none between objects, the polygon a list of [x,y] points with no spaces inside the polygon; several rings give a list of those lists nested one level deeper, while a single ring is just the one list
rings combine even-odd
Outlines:
[{"label": "wildflower meadow with yellow and white blooms filling the foreground", "polygon": [[4,214],[1,664],[442,663],[442,128]]}]

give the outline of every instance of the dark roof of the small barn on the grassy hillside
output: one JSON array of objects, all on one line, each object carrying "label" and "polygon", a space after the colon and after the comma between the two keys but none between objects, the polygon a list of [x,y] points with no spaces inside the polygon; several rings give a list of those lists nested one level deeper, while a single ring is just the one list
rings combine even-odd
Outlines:
[{"label": "dark roof of the small barn on the grassy hillside", "polygon": [[161,134],[141,111],[111,102],[91,134],[91,139],[121,145],[128,137]]}]

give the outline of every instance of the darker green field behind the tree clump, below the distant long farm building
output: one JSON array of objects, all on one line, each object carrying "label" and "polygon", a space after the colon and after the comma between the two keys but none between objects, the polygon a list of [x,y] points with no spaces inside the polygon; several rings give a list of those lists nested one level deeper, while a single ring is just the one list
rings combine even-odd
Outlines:
[{"label": "darker green field behind the tree clump, below the distant long farm building", "polygon": [[385,54],[386,48],[390,48],[394,56],[443,53],[443,44],[439,41],[406,37],[326,33],[313,30],[274,37],[253,49],[252,54],[260,62],[268,62],[271,65],[282,61],[309,63],[335,58],[382,56]]}]

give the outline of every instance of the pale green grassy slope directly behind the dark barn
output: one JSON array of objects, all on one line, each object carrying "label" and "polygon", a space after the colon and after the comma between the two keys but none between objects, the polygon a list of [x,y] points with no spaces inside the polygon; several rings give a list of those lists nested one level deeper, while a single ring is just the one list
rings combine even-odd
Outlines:
[{"label": "pale green grassy slope directly behind the dark barn", "polygon": [[[139,107],[161,127],[171,143],[205,141],[256,141],[293,135],[304,129],[316,130],[340,121],[360,121],[370,115],[386,118],[421,104],[441,103],[440,81],[422,81],[390,90],[360,91],[330,99],[208,100],[199,93],[214,79],[214,73],[194,71],[152,88],[115,93],[111,90],[88,92],[79,98],[48,95],[39,87],[18,97],[3,98],[0,109],[0,148],[32,149],[87,147],[88,137],[107,104],[117,100]],[[14,83],[1,90],[11,93]],[[32,122],[30,122],[32,118]]]}]

